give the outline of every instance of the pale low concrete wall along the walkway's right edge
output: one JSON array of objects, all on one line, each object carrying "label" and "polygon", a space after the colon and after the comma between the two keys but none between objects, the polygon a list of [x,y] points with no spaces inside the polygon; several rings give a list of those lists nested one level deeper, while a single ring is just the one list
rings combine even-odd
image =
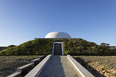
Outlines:
[{"label": "pale low concrete wall along the walkway's right edge", "polygon": [[74,67],[82,75],[82,77],[95,77],[88,70],[86,70],[80,63],[73,59],[70,55],[67,55],[67,58],[71,61]]}]

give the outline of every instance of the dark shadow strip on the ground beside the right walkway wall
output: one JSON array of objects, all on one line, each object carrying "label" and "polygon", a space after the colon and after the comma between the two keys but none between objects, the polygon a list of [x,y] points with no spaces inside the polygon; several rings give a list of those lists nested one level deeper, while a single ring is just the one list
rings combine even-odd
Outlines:
[{"label": "dark shadow strip on the ground beside the right walkway wall", "polygon": [[78,61],[83,67],[85,67],[89,72],[91,72],[95,77],[105,77],[103,74],[101,74],[99,71],[88,65],[87,62],[83,61],[81,58],[77,57],[74,58],[76,61]]}]

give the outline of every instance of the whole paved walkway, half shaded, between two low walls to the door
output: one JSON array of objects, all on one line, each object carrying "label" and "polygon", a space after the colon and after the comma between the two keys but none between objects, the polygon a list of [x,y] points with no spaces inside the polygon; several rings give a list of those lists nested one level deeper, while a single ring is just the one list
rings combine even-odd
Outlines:
[{"label": "whole paved walkway, half shaded, between two low walls to the door", "polygon": [[67,56],[52,56],[39,77],[81,77]]}]

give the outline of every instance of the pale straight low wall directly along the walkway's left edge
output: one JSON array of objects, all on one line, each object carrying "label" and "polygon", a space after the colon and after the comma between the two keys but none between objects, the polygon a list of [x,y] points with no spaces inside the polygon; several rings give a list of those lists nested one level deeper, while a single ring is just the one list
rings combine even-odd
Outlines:
[{"label": "pale straight low wall directly along the walkway's left edge", "polygon": [[47,62],[49,61],[51,55],[44,58],[36,67],[34,67],[25,77],[38,77]]}]

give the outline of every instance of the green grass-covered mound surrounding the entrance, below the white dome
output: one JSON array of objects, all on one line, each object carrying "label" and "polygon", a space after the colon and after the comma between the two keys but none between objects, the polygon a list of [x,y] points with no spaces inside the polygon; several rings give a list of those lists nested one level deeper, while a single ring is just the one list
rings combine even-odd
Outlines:
[{"label": "green grass-covered mound surrounding the entrance, below the white dome", "polygon": [[98,46],[83,39],[34,39],[15,47],[7,48],[0,55],[48,55],[52,54],[54,41],[63,42],[64,54],[70,55],[115,55],[107,47]]}]

